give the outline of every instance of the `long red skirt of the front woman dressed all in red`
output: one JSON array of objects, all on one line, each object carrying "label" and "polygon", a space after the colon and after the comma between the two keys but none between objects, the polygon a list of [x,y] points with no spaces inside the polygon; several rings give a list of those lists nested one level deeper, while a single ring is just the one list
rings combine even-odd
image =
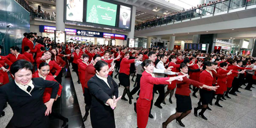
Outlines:
[{"label": "long red skirt of the front woman dressed all in red", "polygon": [[146,99],[137,100],[137,126],[138,128],[146,128],[148,123],[148,115],[150,111],[151,101]]}]

